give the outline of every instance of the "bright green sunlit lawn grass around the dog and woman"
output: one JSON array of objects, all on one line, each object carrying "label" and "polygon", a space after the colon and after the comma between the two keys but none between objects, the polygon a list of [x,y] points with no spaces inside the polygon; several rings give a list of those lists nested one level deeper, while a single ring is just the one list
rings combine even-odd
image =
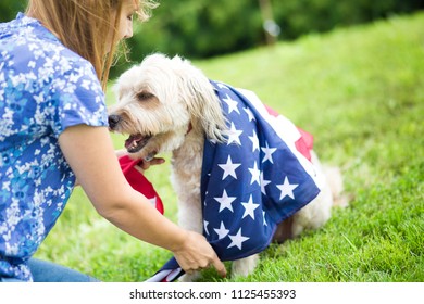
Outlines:
[{"label": "bright green sunlit lawn grass around the dog and woman", "polygon": [[[423,13],[394,17],[196,62],[312,132],[353,197],[323,229],[271,245],[253,275],[224,281],[424,281],[423,24]],[[148,175],[176,220],[169,172]],[[78,189],[37,256],[104,281],[142,281],[171,255],[114,228]],[[221,279],[207,270],[202,280]]]}]

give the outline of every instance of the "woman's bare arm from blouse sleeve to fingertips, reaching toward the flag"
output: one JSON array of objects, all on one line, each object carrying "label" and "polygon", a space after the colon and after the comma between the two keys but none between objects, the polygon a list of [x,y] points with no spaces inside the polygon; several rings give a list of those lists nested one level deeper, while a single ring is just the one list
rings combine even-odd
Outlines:
[{"label": "woman's bare arm from blouse sleeve to fingertips, reaching toward the flag", "polygon": [[188,273],[213,265],[225,276],[224,264],[201,235],[176,226],[128,185],[105,127],[70,127],[59,137],[59,143],[101,216],[142,241],[172,251]]}]

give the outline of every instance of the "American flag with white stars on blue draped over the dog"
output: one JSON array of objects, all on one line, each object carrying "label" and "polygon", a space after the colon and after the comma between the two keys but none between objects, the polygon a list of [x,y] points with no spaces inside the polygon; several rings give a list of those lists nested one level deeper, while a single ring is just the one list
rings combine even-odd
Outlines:
[{"label": "American flag with white stars on blue draped over the dog", "polygon": [[[211,81],[228,118],[225,143],[205,140],[201,175],[203,235],[222,261],[263,251],[278,223],[320,192],[312,137],[251,91]],[[183,273],[172,258],[150,282]]]}]

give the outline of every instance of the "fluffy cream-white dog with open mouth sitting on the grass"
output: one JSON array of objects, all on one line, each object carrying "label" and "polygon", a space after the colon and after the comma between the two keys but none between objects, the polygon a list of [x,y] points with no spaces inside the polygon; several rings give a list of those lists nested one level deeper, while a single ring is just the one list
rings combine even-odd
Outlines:
[{"label": "fluffy cream-white dog with open mouth sitting on the grass", "polygon": [[[162,54],[147,56],[125,72],[116,84],[119,102],[109,113],[110,128],[128,134],[125,142],[134,159],[151,160],[172,151],[172,182],[178,197],[178,223],[202,233],[201,172],[204,139],[223,143],[228,124],[214,87],[187,60]],[[324,178],[316,155],[312,163]],[[325,172],[320,194],[276,229],[274,240],[284,241],[304,229],[316,229],[331,217],[334,204],[342,204],[342,181],[337,168]],[[258,264],[258,255],[234,261],[233,276],[247,276]],[[189,277],[186,280],[192,280]]]}]

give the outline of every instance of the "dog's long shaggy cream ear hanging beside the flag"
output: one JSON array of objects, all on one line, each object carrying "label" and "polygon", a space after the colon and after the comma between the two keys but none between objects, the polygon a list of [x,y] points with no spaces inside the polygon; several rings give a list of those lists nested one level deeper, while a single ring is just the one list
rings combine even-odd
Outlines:
[{"label": "dog's long shaggy cream ear hanging beside the flag", "polygon": [[209,139],[224,141],[227,129],[226,121],[221,109],[221,102],[215,94],[212,84],[199,68],[179,56],[173,58],[180,68],[180,98],[187,104],[191,114],[194,128],[202,128]]}]

